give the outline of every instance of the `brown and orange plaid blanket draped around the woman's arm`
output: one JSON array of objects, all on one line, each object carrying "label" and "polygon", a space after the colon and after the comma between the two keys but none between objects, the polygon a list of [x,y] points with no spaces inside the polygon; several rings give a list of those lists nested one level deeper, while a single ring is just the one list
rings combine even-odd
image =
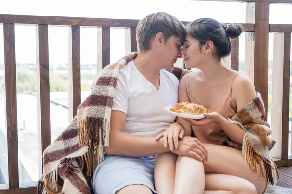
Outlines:
[{"label": "brown and orange plaid blanket draped around the woman's arm", "polygon": [[257,164],[259,164],[262,177],[274,185],[279,179],[279,173],[269,155],[268,146],[271,144],[271,139],[268,136],[271,134],[271,129],[264,121],[265,114],[264,102],[257,92],[254,100],[229,119],[230,123],[237,124],[245,130],[243,145],[233,142],[228,136],[226,138],[229,145],[242,150],[244,158],[254,172],[257,173]]}]

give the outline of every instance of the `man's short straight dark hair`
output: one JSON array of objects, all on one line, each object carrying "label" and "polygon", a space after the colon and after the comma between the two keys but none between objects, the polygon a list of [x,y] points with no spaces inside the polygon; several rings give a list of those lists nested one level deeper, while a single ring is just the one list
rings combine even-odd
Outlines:
[{"label": "man's short straight dark hair", "polygon": [[136,39],[138,52],[150,50],[150,40],[162,32],[165,42],[171,36],[180,37],[182,43],[186,37],[183,23],[165,12],[149,14],[138,22]]}]

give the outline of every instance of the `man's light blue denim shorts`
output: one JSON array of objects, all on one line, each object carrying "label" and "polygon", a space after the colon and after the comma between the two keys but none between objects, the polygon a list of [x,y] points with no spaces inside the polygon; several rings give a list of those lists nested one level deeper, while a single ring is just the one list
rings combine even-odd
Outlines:
[{"label": "man's light blue denim shorts", "polygon": [[155,156],[122,157],[105,155],[92,178],[94,194],[115,194],[129,185],[145,185],[157,194],[154,187]]}]

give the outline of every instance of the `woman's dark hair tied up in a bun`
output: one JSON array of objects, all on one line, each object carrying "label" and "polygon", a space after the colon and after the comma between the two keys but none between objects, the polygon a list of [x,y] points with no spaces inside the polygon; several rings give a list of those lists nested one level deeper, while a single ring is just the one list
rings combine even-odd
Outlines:
[{"label": "woman's dark hair tied up in a bun", "polygon": [[241,24],[221,24],[215,19],[201,18],[186,26],[189,36],[200,43],[200,50],[207,41],[212,41],[216,48],[216,56],[221,59],[231,52],[230,38],[237,38],[243,31]]}]

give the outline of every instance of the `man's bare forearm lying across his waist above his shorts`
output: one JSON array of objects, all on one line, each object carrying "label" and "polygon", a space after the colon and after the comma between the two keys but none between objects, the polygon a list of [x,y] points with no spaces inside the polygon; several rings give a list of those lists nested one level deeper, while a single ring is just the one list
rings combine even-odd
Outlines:
[{"label": "man's bare forearm lying across his waist above his shorts", "polygon": [[105,146],[105,151],[108,155],[142,157],[170,150],[169,147],[164,147],[163,139],[156,141],[155,137],[139,137],[122,131],[112,131],[110,146]]}]

